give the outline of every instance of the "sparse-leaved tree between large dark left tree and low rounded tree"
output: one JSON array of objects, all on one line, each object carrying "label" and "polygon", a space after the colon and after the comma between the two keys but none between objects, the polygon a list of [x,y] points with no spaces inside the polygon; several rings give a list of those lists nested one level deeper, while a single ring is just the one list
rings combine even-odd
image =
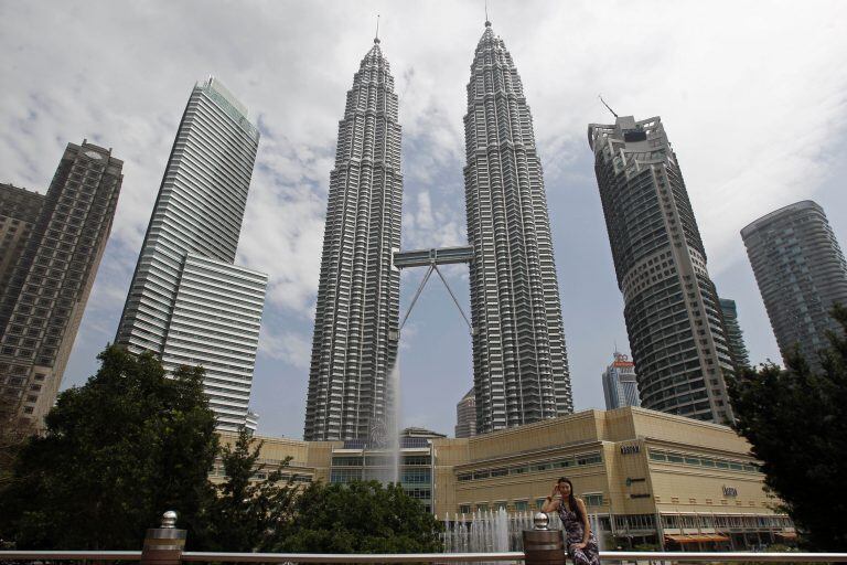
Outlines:
[{"label": "sparse-leaved tree between large dark left tree and low rounded tree", "polygon": [[[204,551],[261,552],[279,543],[298,489],[293,476],[282,480],[282,469],[291,458],[265,472],[266,466],[258,463],[261,446],[262,441],[251,439],[243,428],[234,446],[223,447],[226,479],[216,487],[217,497],[208,507],[208,527],[201,542]],[[258,479],[258,473],[266,477]]]}]

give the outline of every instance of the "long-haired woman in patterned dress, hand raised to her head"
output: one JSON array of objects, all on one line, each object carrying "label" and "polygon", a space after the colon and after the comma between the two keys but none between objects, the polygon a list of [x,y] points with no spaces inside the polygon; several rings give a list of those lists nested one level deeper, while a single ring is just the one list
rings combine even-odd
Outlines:
[{"label": "long-haired woman in patterned dress, hand raised to her head", "polygon": [[542,512],[559,512],[565,529],[565,543],[573,565],[600,565],[597,539],[588,523],[588,512],[582,499],[573,495],[573,483],[562,477],[553,488],[553,494],[542,507]]}]

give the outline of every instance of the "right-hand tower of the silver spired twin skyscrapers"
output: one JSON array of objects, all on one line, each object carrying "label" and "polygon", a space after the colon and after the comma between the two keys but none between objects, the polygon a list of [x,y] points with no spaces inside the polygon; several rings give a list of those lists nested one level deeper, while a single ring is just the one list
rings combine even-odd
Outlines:
[{"label": "right-hand tower of the silver spired twin skyscrapers", "polygon": [[542,162],[521,77],[491,22],[464,116],[476,431],[573,411]]}]

